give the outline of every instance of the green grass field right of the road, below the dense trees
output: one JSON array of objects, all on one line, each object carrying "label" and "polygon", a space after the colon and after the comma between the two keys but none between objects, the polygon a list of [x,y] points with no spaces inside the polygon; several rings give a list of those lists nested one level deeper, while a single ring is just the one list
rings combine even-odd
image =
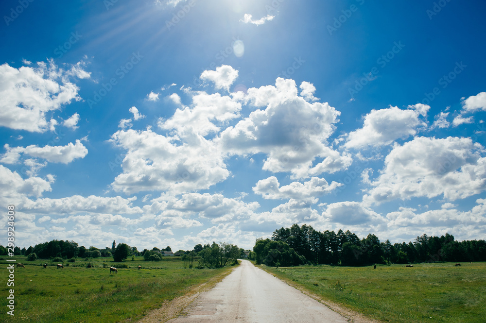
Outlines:
[{"label": "green grass field right of the road, below the dense trees", "polygon": [[486,263],[263,269],[322,297],[394,323],[485,323]]}]

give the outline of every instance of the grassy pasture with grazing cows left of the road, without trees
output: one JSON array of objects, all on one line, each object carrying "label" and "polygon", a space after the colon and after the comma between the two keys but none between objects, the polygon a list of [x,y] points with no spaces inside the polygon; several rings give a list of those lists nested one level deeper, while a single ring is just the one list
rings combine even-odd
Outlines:
[{"label": "grassy pasture with grazing cows left of the road, without trees", "polygon": [[[124,261],[132,268],[119,268],[118,274],[109,272],[110,265],[120,266],[112,257],[95,258],[94,268],[86,268],[87,261],[81,260],[64,269],[57,269],[55,264],[44,269],[41,264],[45,260],[16,259],[25,268],[15,269],[15,287],[7,287],[7,262],[0,260],[0,322],[136,322],[165,300],[228,271],[184,269],[179,257],[164,257],[159,262],[136,257],[135,261]],[[139,265],[141,270],[137,269]],[[15,317],[6,314],[9,289],[15,289]]]}]

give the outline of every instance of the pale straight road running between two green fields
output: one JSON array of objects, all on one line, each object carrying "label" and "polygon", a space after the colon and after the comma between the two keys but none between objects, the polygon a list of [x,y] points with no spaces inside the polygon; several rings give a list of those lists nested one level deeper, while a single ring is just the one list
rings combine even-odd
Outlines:
[{"label": "pale straight road running between two green fields", "polygon": [[184,316],[168,323],[347,323],[328,307],[243,260]]}]

